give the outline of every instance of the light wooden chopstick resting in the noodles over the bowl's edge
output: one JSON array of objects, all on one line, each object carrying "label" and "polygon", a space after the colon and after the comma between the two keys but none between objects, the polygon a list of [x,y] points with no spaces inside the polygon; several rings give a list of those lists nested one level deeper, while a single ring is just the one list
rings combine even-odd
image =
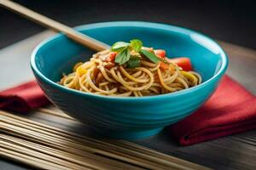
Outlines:
[{"label": "light wooden chopstick resting in the noodles over the bowl's edge", "polygon": [[0,5],[5,8],[13,10],[15,13],[25,16],[29,20],[33,20],[40,25],[47,26],[54,31],[60,31],[65,33],[67,37],[73,39],[75,42],[79,42],[85,47],[91,48],[96,51],[102,51],[110,48],[106,43],[100,42],[92,37],[86,36],[79,31],[75,31],[69,26],[65,26],[60,22],[49,19],[48,17],[38,14],[29,8],[23,7],[18,3],[11,2],[9,0],[0,0]]}]

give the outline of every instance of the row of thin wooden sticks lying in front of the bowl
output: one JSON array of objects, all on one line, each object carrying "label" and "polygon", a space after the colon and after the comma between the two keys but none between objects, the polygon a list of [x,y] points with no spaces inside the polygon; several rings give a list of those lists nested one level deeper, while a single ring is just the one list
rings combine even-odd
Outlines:
[{"label": "row of thin wooden sticks lying in front of the bowl", "polygon": [[[0,111],[0,155],[50,169],[207,169],[125,141],[91,139]],[[37,162],[37,163],[32,163]],[[52,168],[51,168],[52,167]]]}]

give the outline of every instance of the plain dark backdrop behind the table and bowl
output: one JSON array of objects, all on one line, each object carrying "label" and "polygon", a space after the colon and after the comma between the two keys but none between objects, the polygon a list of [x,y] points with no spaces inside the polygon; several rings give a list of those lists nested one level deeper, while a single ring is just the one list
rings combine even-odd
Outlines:
[{"label": "plain dark backdrop behind the table and bowl", "polygon": [[[16,0],[68,26],[110,20],[144,20],[183,26],[218,40],[256,49],[256,9],[253,1],[67,1]],[[44,27],[0,8],[0,48]]]}]

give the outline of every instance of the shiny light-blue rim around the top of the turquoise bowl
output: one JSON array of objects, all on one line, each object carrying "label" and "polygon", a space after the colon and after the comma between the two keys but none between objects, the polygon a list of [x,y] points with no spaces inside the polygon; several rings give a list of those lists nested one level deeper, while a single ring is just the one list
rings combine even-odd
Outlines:
[{"label": "shiny light-blue rim around the top of the turquoise bowl", "polygon": [[171,97],[177,97],[183,94],[189,94],[192,93],[200,88],[203,88],[207,85],[209,85],[211,82],[214,80],[222,77],[224,75],[224,72],[226,71],[229,63],[229,59],[227,54],[225,54],[224,49],[220,47],[218,42],[215,42],[212,40],[212,38],[207,37],[197,31],[192,31],[187,28],[183,28],[180,26],[172,26],[172,25],[167,25],[167,24],[162,24],[162,23],[155,23],[155,22],[145,22],[145,21],[110,21],[110,22],[100,22],[100,23],[92,23],[92,24],[85,24],[82,26],[76,26],[74,29],[78,31],[83,31],[87,29],[95,29],[95,28],[104,28],[104,27],[116,27],[116,26],[134,26],[134,27],[145,27],[145,28],[156,28],[159,30],[165,30],[165,31],[176,31],[178,33],[182,33],[184,35],[195,35],[203,38],[204,41],[211,42],[212,45],[218,48],[219,54],[222,59],[222,65],[220,69],[218,70],[217,73],[213,75],[213,77],[209,78],[206,82],[202,82],[201,84],[192,87],[192,88],[187,88],[183,89],[181,91],[177,91],[171,94],[159,94],[159,95],[153,95],[153,96],[143,96],[143,97],[119,97],[119,96],[107,96],[107,95],[101,95],[101,94],[89,94],[89,93],[84,93],[79,90],[74,90],[71,88],[66,88],[64,86],[61,86],[57,82],[51,81],[48,77],[45,77],[44,74],[38,70],[38,67],[36,65],[36,55],[38,54],[38,50],[42,48],[46,43],[51,42],[55,40],[58,37],[63,36],[62,33],[57,33],[54,36],[46,38],[43,42],[40,42],[36,48],[33,49],[32,54],[31,54],[31,61],[30,65],[32,67],[32,70],[34,74],[36,74],[38,77],[44,80],[44,82],[48,82],[50,85],[54,86],[55,88],[58,88],[61,91],[65,91],[67,93],[71,94],[79,94],[82,96],[87,96],[87,97],[92,97],[92,98],[98,98],[98,99],[110,99],[110,100],[131,100],[131,101],[141,101],[141,100],[148,100],[148,99],[166,99],[166,98],[171,98]]}]

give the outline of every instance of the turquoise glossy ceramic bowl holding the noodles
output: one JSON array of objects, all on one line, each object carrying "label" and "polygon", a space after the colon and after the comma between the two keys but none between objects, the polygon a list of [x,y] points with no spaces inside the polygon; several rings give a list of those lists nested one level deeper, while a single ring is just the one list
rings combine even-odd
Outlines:
[{"label": "turquoise glossy ceramic bowl holding the noodles", "polygon": [[187,56],[203,77],[201,85],[172,94],[141,98],[86,94],[56,82],[63,72],[70,72],[76,62],[90,59],[94,52],[62,34],[41,42],[32,53],[31,66],[44,93],[69,116],[112,138],[145,138],[189,116],[209,99],[228,65],[216,42],[177,26],[125,21],[76,29],[108,44],[139,38],[145,46],[166,49],[168,56]]}]

